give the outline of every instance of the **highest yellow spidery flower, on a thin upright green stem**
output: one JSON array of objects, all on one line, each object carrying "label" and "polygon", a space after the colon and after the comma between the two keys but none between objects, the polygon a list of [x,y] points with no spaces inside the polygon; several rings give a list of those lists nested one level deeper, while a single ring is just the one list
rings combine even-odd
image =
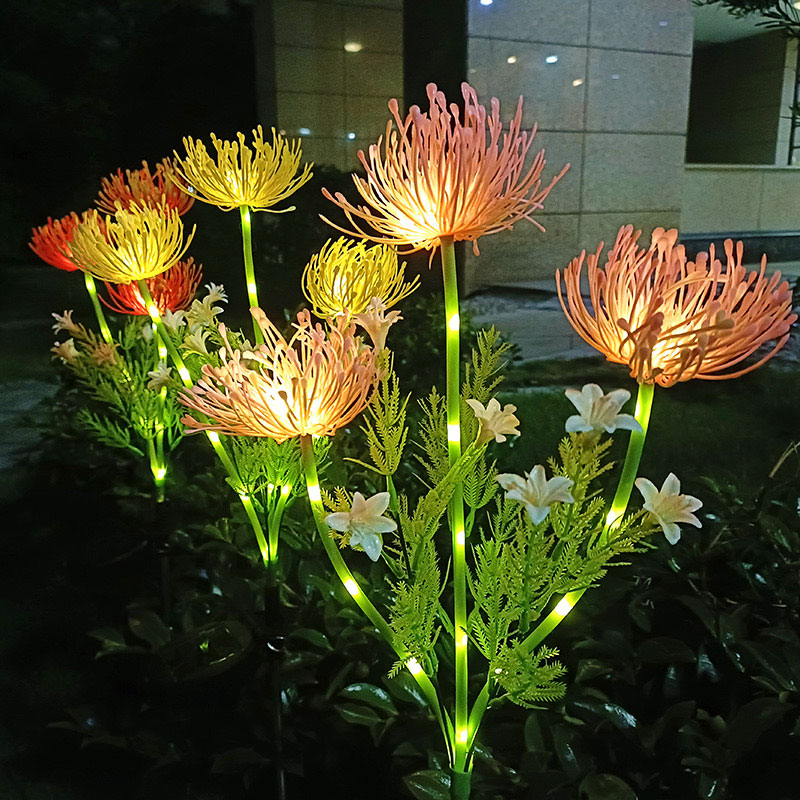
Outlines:
[{"label": "highest yellow spidery flower, on a thin upright green stem", "polygon": [[211,134],[211,143],[217,151],[216,161],[199,139],[184,137],[186,157],[175,153],[175,169],[192,187],[192,195],[198,200],[223,211],[242,206],[267,211],[311,178],[312,164],[300,169],[299,139],[289,141],[273,128],[272,144],[269,144],[264,141],[260,125],[253,130],[251,146],[245,144],[243,133],[237,133],[236,137],[238,142],[229,142]]}]

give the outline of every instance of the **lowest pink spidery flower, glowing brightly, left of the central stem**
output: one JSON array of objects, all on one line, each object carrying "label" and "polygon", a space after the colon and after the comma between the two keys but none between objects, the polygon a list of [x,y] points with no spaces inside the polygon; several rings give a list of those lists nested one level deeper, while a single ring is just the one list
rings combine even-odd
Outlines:
[{"label": "lowest pink spidery flower, glowing brightly, left of the central stem", "polygon": [[284,442],[308,434],[332,436],[364,410],[375,383],[376,357],[355,335],[355,325],[339,318],[326,334],[303,311],[287,342],[260,308],[251,313],[264,343],[253,352],[233,350],[220,325],[228,360],[220,367],[203,365],[204,377],[180,396],[211,422],[187,415],[185,425]]}]

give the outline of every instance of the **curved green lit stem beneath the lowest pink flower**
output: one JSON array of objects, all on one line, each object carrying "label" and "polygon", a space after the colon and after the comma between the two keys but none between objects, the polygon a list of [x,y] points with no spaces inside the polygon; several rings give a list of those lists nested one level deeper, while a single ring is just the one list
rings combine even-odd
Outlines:
[{"label": "curved green lit stem beneath the lowest pink flower", "polygon": [[353,573],[350,572],[347,564],[344,563],[339,547],[331,536],[330,528],[325,524],[325,508],[322,505],[322,492],[319,486],[317,463],[314,458],[314,444],[311,440],[311,436],[306,435],[300,437],[300,453],[303,460],[303,472],[306,477],[308,500],[311,503],[311,513],[314,517],[317,531],[319,532],[319,538],[322,540],[322,545],[325,548],[325,552],[328,554],[328,558],[330,559],[336,575],[347,590],[347,593],[355,600],[356,605],[364,612],[367,619],[378,629],[381,636],[386,639],[391,648],[397,653],[398,657],[406,662],[408,671],[422,690],[431,711],[433,711],[439,722],[439,727],[442,729],[442,735],[445,738],[448,752],[451,753],[453,731],[448,721],[445,720],[439,697],[436,694],[436,688],[419,662],[415,658],[409,658],[405,648],[397,643],[389,624],[383,618],[380,611],[372,604],[372,601],[367,597],[363,589],[358,585],[358,581],[353,577]]}]

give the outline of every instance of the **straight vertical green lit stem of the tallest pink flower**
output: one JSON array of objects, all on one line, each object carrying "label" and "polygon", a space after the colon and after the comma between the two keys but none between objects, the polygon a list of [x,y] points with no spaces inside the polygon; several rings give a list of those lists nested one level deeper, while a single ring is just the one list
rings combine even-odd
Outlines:
[{"label": "straight vertical green lit stem of the tallest pink flower", "polygon": [[[460,317],[458,276],[452,237],[442,237],[444,283],[445,350],[447,360],[447,453],[452,467],[461,458],[461,375],[459,362]],[[450,527],[453,536],[453,624],[455,626],[455,758],[453,770],[467,772],[469,750],[469,665],[467,653],[467,562],[464,527],[464,490],[459,482],[450,499]]]}]

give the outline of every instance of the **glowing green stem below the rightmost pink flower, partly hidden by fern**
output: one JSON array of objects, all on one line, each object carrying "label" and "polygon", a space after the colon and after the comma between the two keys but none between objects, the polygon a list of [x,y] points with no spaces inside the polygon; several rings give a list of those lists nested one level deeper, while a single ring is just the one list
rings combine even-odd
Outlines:
[{"label": "glowing green stem below the rightmost pink flower, partly hidden by fern", "polygon": [[[642,426],[641,432],[632,431],[631,438],[628,440],[628,451],[625,454],[625,463],[622,465],[622,472],[619,476],[617,491],[611,501],[611,508],[606,517],[605,525],[600,534],[600,544],[608,541],[608,535],[614,526],[625,516],[628,508],[628,501],[631,499],[631,492],[639,471],[639,462],[642,459],[644,441],[647,438],[647,427],[650,422],[650,412],[653,408],[653,385],[639,384],[639,394],[636,397],[636,412],[634,417]],[[523,646],[528,650],[533,650],[538,646],[548,634],[556,628],[561,620],[574,608],[578,600],[583,597],[585,589],[570,592],[565,595],[556,607],[539,623],[539,626],[523,642]]]}]

